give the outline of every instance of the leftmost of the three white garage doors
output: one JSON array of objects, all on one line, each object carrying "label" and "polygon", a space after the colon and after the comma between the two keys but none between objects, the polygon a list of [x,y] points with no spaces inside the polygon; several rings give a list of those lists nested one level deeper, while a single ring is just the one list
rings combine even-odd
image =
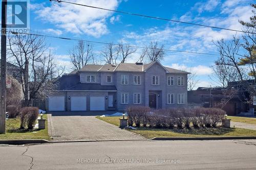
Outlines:
[{"label": "leftmost of the three white garage doors", "polygon": [[65,111],[65,96],[49,97],[49,111]]}]

